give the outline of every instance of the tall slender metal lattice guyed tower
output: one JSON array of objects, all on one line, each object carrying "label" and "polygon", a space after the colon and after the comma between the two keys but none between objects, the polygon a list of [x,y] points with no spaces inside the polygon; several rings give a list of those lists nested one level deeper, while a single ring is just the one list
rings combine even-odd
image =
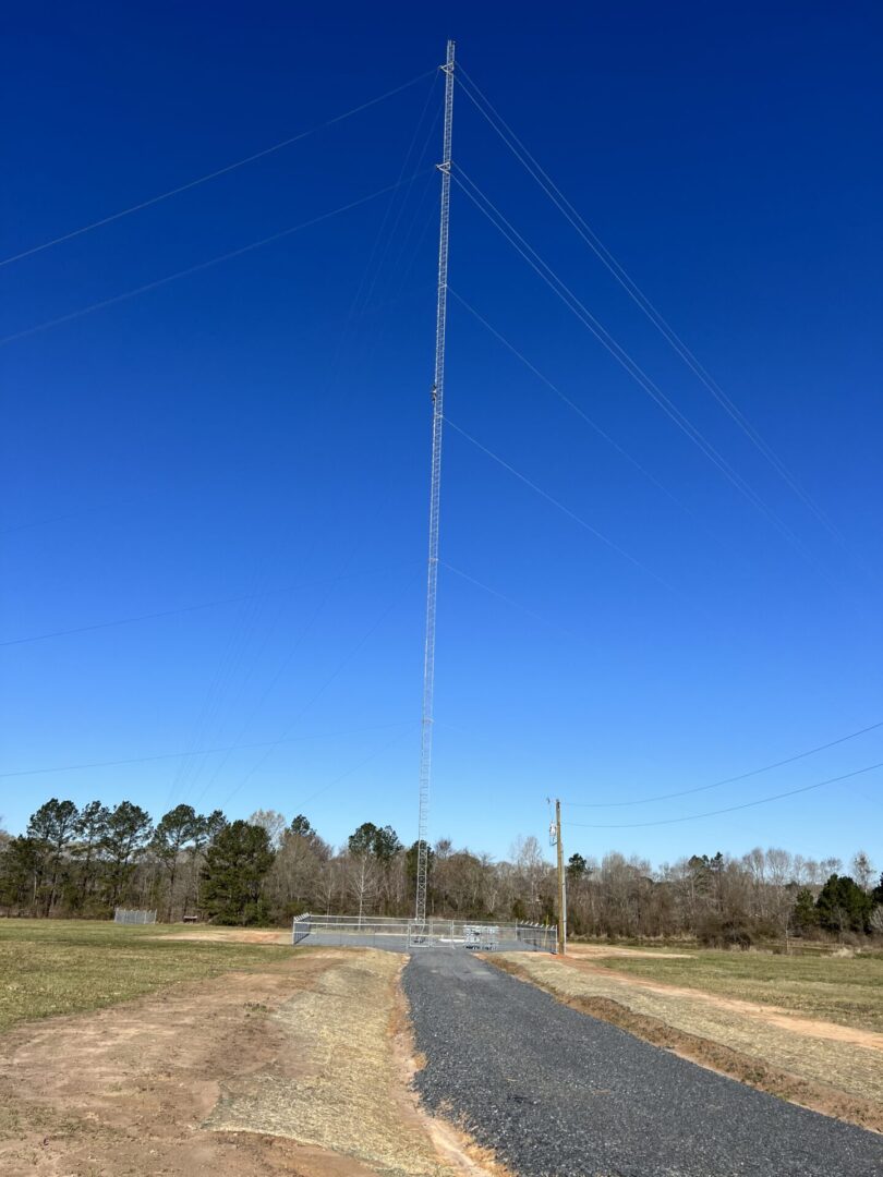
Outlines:
[{"label": "tall slender metal lattice guyed tower", "polygon": [[442,426],[445,391],[445,319],[447,314],[447,234],[451,207],[451,131],[453,125],[453,41],[447,42],[445,74],[445,126],[442,162],[442,217],[438,234],[438,297],[436,302],[436,370],[432,383],[432,476],[430,483],[430,554],[426,577],[426,644],[423,661],[423,713],[420,722],[420,804],[417,820],[417,895],[414,920],[426,919],[430,847],[430,783],[432,778],[432,709],[436,685],[436,597],[438,588],[438,508],[442,488]]}]

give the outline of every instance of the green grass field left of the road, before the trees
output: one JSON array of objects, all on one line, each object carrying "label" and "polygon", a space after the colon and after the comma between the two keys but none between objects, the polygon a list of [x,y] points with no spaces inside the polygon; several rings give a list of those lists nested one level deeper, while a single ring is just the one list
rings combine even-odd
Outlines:
[{"label": "green grass field left of the road, before the trees", "polygon": [[178,982],[272,969],[292,958],[285,945],[168,939],[173,931],[180,927],[0,920],[0,1033],[19,1022],[97,1010]]}]

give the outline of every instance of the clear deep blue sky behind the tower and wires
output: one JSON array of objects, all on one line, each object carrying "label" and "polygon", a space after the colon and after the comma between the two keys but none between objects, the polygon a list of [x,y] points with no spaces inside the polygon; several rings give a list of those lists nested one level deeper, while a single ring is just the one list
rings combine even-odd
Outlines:
[{"label": "clear deep blue sky behind the tower and wires", "polygon": [[[781,521],[741,494],[454,187],[431,830],[506,853],[544,798],[691,789],[883,720],[881,126],[871,4],[35,4],[6,25],[0,778],[416,834],[445,39],[786,464],[774,471],[466,100],[454,159]],[[505,13],[505,19],[500,19]],[[410,145],[413,149],[409,152]],[[424,152],[425,148],[425,152]],[[663,492],[657,484],[665,487]],[[784,530],[792,534],[789,539]],[[836,536],[835,536],[836,533]],[[217,603],[217,604],[211,604]],[[187,606],[205,606],[184,611]],[[279,743],[283,740],[281,743]],[[260,747],[241,745],[260,744]],[[637,823],[883,762],[883,729]],[[571,827],[655,863],[883,858],[883,773],[732,814]]]}]

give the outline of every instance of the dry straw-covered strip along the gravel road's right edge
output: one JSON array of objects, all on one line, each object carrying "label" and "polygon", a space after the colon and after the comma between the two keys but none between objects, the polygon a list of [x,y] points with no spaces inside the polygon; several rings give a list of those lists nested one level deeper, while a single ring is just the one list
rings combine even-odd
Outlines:
[{"label": "dry straw-covered strip along the gravel road's right edge", "polygon": [[489,959],[653,1045],[794,1103],[883,1130],[883,1056],[843,1042],[850,1031],[842,1026],[831,1025],[831,1037],[817,1037],[799,1029],[804,1019],[781,1025],[769,1009],[666,992],[583,962],[526,953]]}]

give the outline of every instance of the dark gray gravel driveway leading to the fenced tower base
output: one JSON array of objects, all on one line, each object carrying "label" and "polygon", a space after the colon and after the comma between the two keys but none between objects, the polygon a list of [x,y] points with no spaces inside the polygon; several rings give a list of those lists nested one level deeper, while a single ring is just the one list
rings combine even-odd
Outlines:
[{"label": "dark gray gravel driveway leading to the fenced tower base", "polygon": [[462,950],[404,972],[424,1103],[520,1177],[883,1177],[883,1137],[578,1013]]}]

